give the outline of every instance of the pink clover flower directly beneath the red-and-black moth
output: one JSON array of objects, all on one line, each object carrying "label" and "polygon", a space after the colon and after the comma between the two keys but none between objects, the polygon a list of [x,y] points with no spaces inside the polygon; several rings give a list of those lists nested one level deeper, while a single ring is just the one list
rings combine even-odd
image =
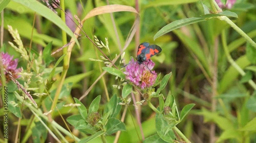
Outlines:
[{"label": "pink clover flower directly beneath the red-and-black moth", "polygon": [[155,66],[155,63],[151,60],[146,60],[142,64],[135,62],[132,59],[125,67],[124,74],[126,79],[140,87],[141,89],[151,87],[157,78],[155,71],[151,71]]}]

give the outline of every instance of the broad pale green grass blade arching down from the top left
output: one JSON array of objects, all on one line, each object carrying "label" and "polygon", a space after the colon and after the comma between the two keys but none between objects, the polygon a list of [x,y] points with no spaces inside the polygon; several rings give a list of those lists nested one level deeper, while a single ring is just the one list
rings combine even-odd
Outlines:
[{"label": "broad pale green grass blade arching down from the top left", "polygon": [[73,32],[70,30],[70,28],[67,26],[67,24],[62,21],[62,19],[55,14],[52,10],[50,10],[48,7],[42,5],[36,0],[30,0],[29,3],[24,0],[12,0],[13,2],[19,3],[33,11],[35,11],[37,14],[45,17],[46,19],[52,21],[54,24],[56,24],[58,27],[61,28],[61,30],[65,31],[69,36],[75,39],[77,46],[80,47],[77,39],[75,38]]}]

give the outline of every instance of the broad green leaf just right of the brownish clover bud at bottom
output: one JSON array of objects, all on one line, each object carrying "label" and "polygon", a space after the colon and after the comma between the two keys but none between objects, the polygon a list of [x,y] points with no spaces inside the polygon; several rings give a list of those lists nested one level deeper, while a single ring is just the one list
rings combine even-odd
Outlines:
[{"label": "broad green leaf just right of the brownish clover bud at bottom", "polygon": [[117,131],[125,131],[125,125],[118,119],[110,118],[106,124],[106,134],[111,135]]}]

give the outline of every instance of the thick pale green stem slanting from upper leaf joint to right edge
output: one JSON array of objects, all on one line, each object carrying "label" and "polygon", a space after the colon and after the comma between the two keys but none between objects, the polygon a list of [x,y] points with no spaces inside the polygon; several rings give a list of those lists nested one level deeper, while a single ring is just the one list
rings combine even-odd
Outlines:
[{"label": "thick pale green stem slanting from upper leaf joint to right edge", "polygon": [[229,18],[227,18],[226,16],[221,16],[219,19],[226,21],[235,31],[237,31],[242,37],[244,37],[247,42],[249,42],[254,48],[256,48],[256,43]]}]

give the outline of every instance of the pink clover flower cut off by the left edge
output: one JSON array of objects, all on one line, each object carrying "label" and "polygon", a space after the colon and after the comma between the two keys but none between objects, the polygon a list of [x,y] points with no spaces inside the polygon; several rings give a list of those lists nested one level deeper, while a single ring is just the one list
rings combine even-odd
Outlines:
[{"label": "pink clover flower cut off by the left edge", "polygon": [[[5,69],[5,78],[6,81],[10,81],[11,78],[7,75],[7,71],[10,72],[14,78],[19,78],[18,72],[22,71],[21,68],[17,69],[18,59],[12,60],[13,56],[9,55],[8,53],[2,52],[2,62]],[[0,67],[1,68],[1,67]],[[2,81],[0,79],[0,85],[2,85]]]}]

